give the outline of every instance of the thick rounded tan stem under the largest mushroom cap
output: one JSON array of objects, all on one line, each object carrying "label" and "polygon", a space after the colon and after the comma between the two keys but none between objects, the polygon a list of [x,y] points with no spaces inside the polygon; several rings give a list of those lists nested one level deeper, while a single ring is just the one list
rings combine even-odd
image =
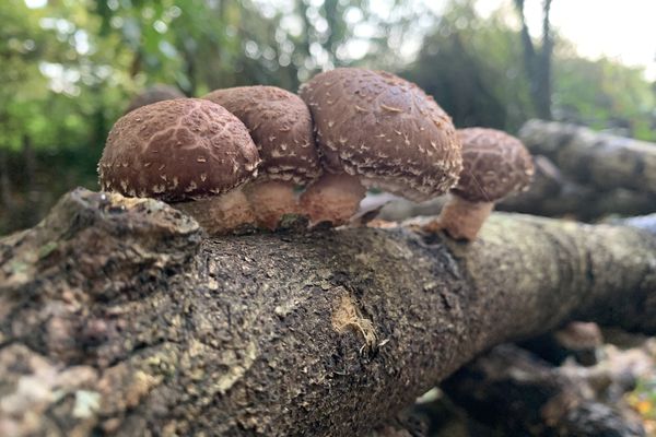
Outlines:
[{"label": "thick rounded tan stem under the largest mushroom cap", "polygon": [[301,194],[301,210],[311,225],[330,222],[340,226],[358,212],[365,193],[356,176],[325,173]]}]

